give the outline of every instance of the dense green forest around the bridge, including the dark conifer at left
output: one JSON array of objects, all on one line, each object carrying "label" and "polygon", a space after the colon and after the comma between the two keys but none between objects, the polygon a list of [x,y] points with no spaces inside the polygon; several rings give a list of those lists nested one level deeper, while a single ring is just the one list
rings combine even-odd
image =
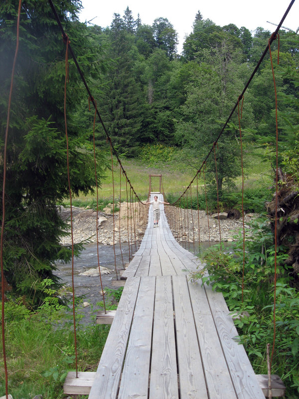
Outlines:
[{"label": "dense green forest around the bridge, including the dark conifer at left", "polygon": [[[167,18],[157,15],[152,24],[147,25],[139,16],[137,20],[133,18],[128,6],[123,15],[113,15],[110,26],[101,27],[79,21],[82,7],[79,0],[55,0],[53,3],[120,158],[142,159],[149,152],[162,148],[163,161],[163,154],[171,148],[186,165],[197,170],[268,45],[271,32],[261,26],[254,32],[233,23],[218,26],[212,20],[213,15],[205,19],[198,10],[192,32],[185,38],[182,54],[178,54],[177,33]],[[16,0],[4,0],[0,4],[1,183],[17,7]],[[296,216],[299,214],[298,31],[281,29],[280,44],[275,40],[271,48],[278,94],[280,191],[283,198],[295,193],[294,201],[286,200],[285,210],[280,210],[280,244],[287,248],[282,262],[287,265],[285,273],[292,279],[292,282],[288,280],[288,286],[297,292],[292,295],[298,295],[295,273],[298,271],[295,266],[292,270],[292,265],[299,264],[299,257],[291,248],[299,245]],[[12,292],[25,298],[31,310],[44,303],[45,279],[51,279],[54,287],[59,286],[54,275],[55,262],[68,262],[72,255],[72,249],[63,246],[59,239],[68,233],[56,206],[69,195],[65,173],[64,78],[65,44],[48,1],[22,1],[7,143],[3,268]],[[71,58],[66,104],[71,191],[76,197],[95,190],[93,113],[89,111],[83,83]],[[254,153],[258,149],[261,163],[267,161],[274,171],[275,92],[269,52],[246,91],[242,113],[241,130],[247,151]],[[102,125],[96,122],[95,126],[97,173],[101,184],[110,168],[110,148]],[[237,201],[235,181],[241,176],[237,112],[218,147],[221,154],[217,174],[220,200],[227,207],[234,207]],[[212,161],[207,161],[207,177],[209,195],[214,200],[211,203],[215,204],[212,184],[216,175]],[[0,190],[2,198],[2,185]],[[266,197],[260,199],[263,211],[266,211]],[[169,193],[169,198],[175,200],[176,194]],[[240,205],[240,198],[238,201]],[[270,200],[267,206],[267,217],[273,217],[274,205]],[[259,234],[267,224],[265,220],[263,223]],[[269,225],[267,228],[267,242],[271,246],[273,231]],[[265,236],[261,235],[260,240],[263,243]],[[286,253],[290,248],[293,252],[288,262]],[[76,245],[75,255],[81,249],[82,245]],[[208,255],[208,259],[211,256]],[[231,259],[227,261],[230,263]],[[211,266],[209,272],[217,276],[212,269]],[[223,276],[217,278],[222,281]],[[259,282],[263,282],[260,275]],[[235,300],[231,287],[227,296]],[[286,372],[294,390],[299,387],[296,372],[298,304],[296,306],[297,314],[292,313],[292,320],[297,323],[292,325],[295,338],[292,336],[292,344],[286,344],[285,355],[288,357],[292,353],[294,357],[292,371]],[[288,328],[291,324],[290,321]]]}]

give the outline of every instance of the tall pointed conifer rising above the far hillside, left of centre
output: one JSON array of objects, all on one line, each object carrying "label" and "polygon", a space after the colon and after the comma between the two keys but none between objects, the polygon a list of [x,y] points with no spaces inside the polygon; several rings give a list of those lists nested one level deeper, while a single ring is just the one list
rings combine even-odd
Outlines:
[{"label": "tall pointed conifer rising above the far hillside, left of centre", "polygon": [[[115,20],[108,32],[109,56],[114,68],[106,76],[106,85],[100,95],[103,120],[114,145],[120,152],[132,157],[140,144],[140,125],[144,99],[141,86],[134,76],[134,61],[138,52],[135,37],[126,29],[115,30]],[[105,139],[104,132],[102,138]]]}]

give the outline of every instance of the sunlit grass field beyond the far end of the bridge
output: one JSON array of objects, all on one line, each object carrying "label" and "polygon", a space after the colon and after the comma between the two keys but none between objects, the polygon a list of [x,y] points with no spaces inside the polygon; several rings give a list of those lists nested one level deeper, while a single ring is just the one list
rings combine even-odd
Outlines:
[{"label": "sunlit grass field beyond the far end of the bridge", "polygon": [[[244,152],[244,188],[258,188],[265,185],[271,185],[273,181],[273,171],[271,170],[270,161],[262,162],[264,150],[249,149]],[[182,193],[189,185],[196,174],[196,167],[194,167],[196,160],[192,161],[184,158],[184,154],[180,156],[176,153],[175,157],[170,161],[162,162],[159,160],[156,163],[142,161],[140,159],[124,159],[122,164],[126,170],[127,176],[134,187],[135,192],[141,200],[145,200],[149,193],[149,175],[162,175],[162,185],[164,193],[176,194]],[[121,174],[120,167],[116,166],[116,162],[112,170],[107,171],[105,179],[101,182],[99,189],[99,199],[104,202],[110,202],[113,198],[113,191],[115,198],[119,200],[121,193],[121,200],[127,200],[126,180]],[[121,179],[121,181],[120,181]],[[114,190],[113,190],[114,180]],[[238,177],[235,181],[237,190],[242,189],[242,178]],[[198,179],[198,184],[203,187],[203,179]],[[196,185],[196,179],[194,186]],[[193,185],[192,185],[193,187]],[[151,191],[159,191],[159,178],[151,179]],[[130,200],[130,191],[128,185],[128,196]],[[79,198],[73,201],[76,206],[87,206],[96,201],[96,194],[89,193],[87,196],[80,195]],[[65,200],[64,204],[69,204],[69,200]]]}]

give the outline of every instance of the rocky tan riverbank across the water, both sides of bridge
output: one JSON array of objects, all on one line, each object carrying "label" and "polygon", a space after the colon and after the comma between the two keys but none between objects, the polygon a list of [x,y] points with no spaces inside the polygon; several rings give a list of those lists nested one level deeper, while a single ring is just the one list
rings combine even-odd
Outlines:
[{"label": "rocky tan riverbank across the water, both sides of bridge", "polygon": [[[119,205],[119,204],[118,204]],[[129,219],[129,234],[128,234],[128,218],[127,218],[127,202],[122,202],[120,211],[115,212],[114,216],[111,212],[109,205],[104,209],[103,212],[98,213],[93,209],[73,207],[73,238],[74,243],[82,241],[97,242],[97,228],[98,228],[98,241],[100,244],[113,245],[115,242],[121,241],[122,243],[131,242],[134,240],[134,228],[131,234],[131,222]],[[63,220],[66,220],[70,224],[70,208],[59,207],[59,212]],[[207,217],[206,212],[200,210],[185,210],[182,209],[179,218],[179,232],[176,231],[175,238],[179,242],[198,242],[198,239],[202,241],[219,241],[219,224],[218,219],[209,215]],[[245,215],[245,224],[255,214],[250,213]],[[199,223],[198,223],[199,220]],[[199,226],[198,226],[199,224]],[[189,226],[189,229],[187,228]],[[209,234],[209,230],[210,234]],[[248,226],[248,225],[247,225]],[[242,218],[239,220],[224,218],[220,220],[221,239],[223,241],[233,241],[234,235],[242,228]],[[139,235],[142,237],[143,231],[139,231]],[[198,238],[199,236],[199,238]],[[71,237],[61,237],[63,245],[71,244]]]}]

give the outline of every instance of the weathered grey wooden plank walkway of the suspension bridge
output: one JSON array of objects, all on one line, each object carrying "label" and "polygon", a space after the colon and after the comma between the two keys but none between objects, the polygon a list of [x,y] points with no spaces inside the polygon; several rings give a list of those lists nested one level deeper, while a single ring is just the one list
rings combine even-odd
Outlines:
[{"label": "weathered grey wooden plank walkway of the suspension bridge", "polygon": [[149,209],[89,399],[265,398],[223,295],[188,281],[198,265]]}]

